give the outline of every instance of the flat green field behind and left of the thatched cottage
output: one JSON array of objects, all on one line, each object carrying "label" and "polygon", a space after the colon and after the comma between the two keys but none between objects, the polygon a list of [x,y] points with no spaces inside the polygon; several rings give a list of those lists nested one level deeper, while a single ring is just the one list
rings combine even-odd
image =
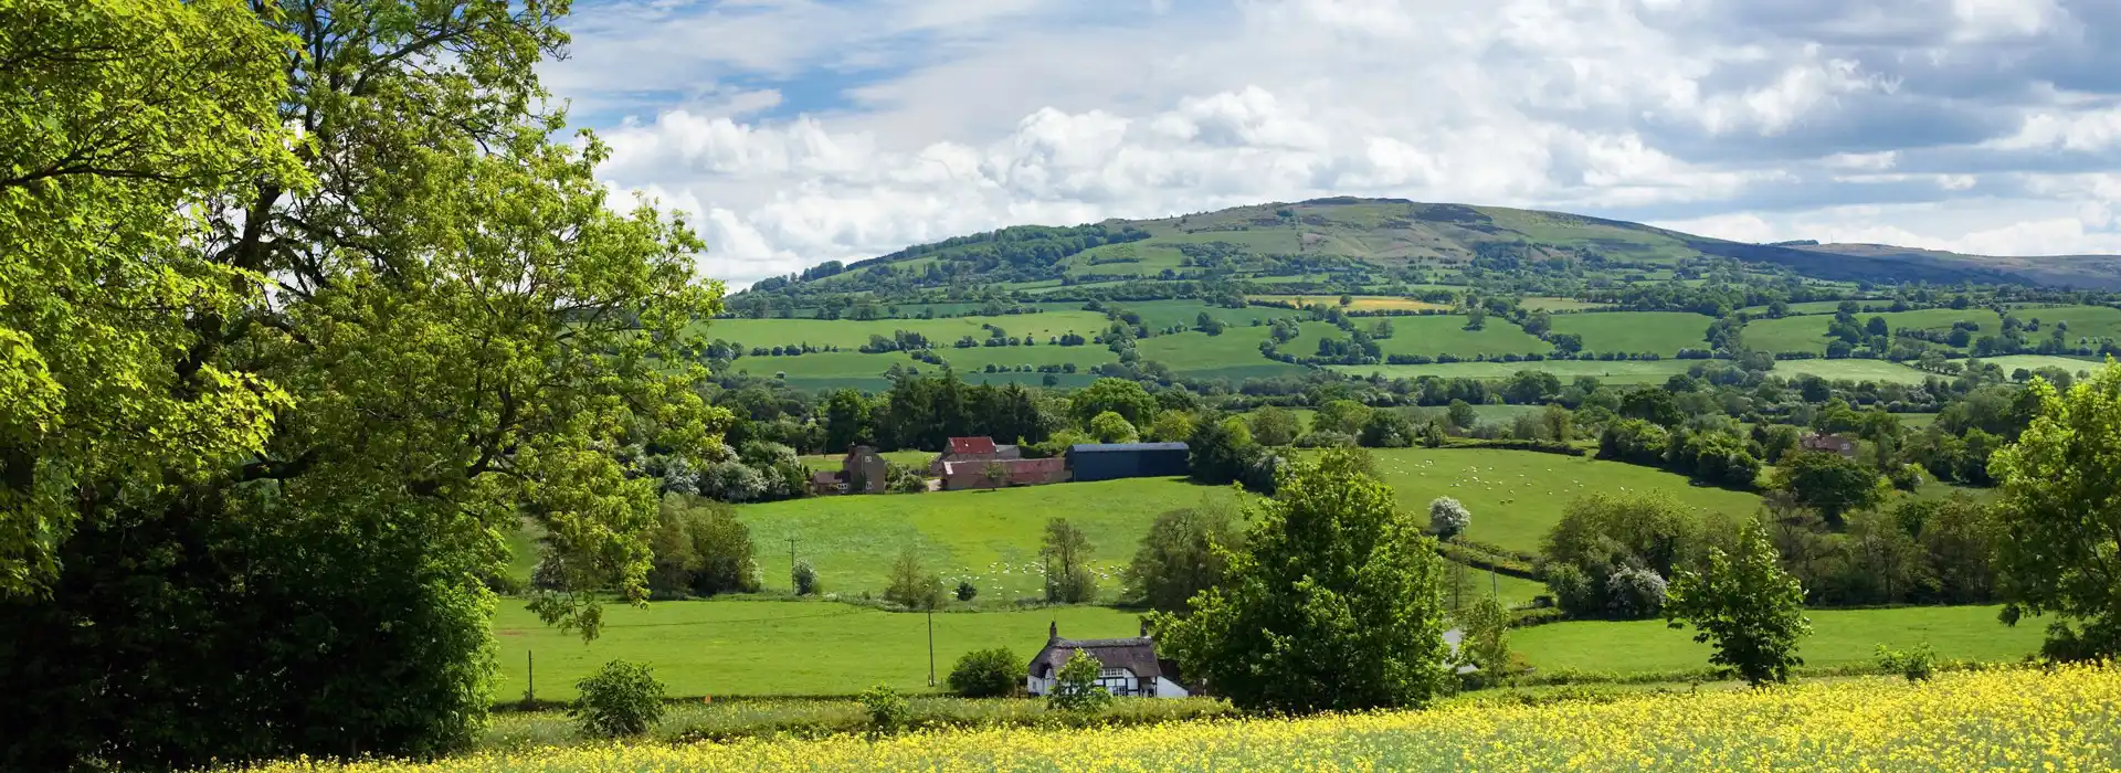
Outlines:
[{"label": "flat green field behind and left of the thatched cottage", "polygon": [[[783,553],[785,555],[785,553]],[[787,574],[783,570],[783,574]],[[855,695],[872,684],[927,690],[927,616],[831,601],[658,601],[607,606],[596,642],[545,627],[522,599],[501,599],[496,701],[524,695],[534,663],[539,699],[575,697],[575,680],[613,659],[647,663],[670,695]],[[1139,614],[1103,606],[935,614],[935,667],[969,650],[1007,646],[1027,663],[1046,625],[1067,637],[1141,631]],[[532,659],[526,663],[526,654]]]}]

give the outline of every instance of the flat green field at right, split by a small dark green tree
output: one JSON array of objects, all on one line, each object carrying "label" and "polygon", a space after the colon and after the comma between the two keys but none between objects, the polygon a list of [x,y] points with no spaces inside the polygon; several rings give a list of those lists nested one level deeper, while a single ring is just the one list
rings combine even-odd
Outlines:
[{"label": "flat green field at right, split by a small dark green tree", "polygon": [[[1805,665],[1871,663],[1879,644],[1930,644],[1941,659],[2017,661],[2040,650],[2045,623],[1996,623],[1994,606],[1915,606],[1896,610],[1811,610],[1811,635],[1799,644]],[[1510,646],[1531,665],[1574,671],[1671,671],[1710,661],[1710,646],[1693,629],[1665,621],[1572,621],[1510,633]]]}]

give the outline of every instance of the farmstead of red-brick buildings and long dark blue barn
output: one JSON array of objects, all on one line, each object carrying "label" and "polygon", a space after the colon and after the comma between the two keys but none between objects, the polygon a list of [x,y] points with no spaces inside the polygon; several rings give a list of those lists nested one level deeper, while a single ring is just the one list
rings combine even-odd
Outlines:
[{"label": "farmstead of red-brick buildings and long dark blue barn", "polygon": [[[950,438],[927,466],[944,491],[1001,489],[1067,481],[1177,477],[1188,472],[1186,443],[1082,443],[1067,455],[1024,460],[1020,447],[995,438]],[[838,472],[810,477],[812,493],[880,493],[889,466],[876,449],[857,445]]]}]

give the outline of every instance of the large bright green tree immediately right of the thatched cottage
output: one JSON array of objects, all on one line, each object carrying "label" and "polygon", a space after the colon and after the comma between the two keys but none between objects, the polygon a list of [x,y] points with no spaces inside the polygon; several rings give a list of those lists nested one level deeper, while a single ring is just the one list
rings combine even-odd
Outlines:
[{"label": "large bright green tree immediately right of the thatched cottage", "polygon": [[1228,580],[1156,612],[1184,673],[1243,709],[1421,705],[1444,686],[1434,540],[1349,451],[1300,462],[1249,510]]}]

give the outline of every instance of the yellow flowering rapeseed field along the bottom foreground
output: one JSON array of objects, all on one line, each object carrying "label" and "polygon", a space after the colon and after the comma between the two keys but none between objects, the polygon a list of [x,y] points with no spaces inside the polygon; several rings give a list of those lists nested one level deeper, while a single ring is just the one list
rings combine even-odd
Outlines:
[{"label": "yellow flowering rapeseed field along the bottom foreground", "polygon": [[2115,771],[2121,669],[1862,678],[1616,703],[1453,705],[882,741],[588,745],[265,771]]}]

